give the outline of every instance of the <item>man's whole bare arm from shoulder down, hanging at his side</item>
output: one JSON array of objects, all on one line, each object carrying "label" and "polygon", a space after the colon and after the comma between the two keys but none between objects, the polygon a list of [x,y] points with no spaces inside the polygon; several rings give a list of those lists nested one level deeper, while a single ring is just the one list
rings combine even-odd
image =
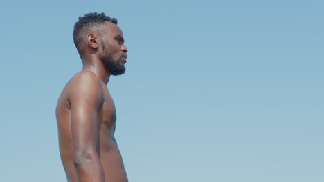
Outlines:
[{"label": "man's whole bare arm from shoulder down, hanging at his side", "polygon": [[100,80],[91,72],[84,72],[71,83],[71,132],[73,162],[80,182],[103,182],[105,175],[96,151],[98,137],[98,109],[102,104]]}]

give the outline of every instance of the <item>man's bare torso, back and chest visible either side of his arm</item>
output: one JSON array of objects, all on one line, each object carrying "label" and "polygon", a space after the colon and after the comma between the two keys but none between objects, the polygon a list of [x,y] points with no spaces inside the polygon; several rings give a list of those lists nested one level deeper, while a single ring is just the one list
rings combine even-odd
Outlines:
[{"label": "man's bare torso, back and chest visible either side of his arm", "polygon": [[[80,74],[80,73],[79,73]],[[77,74],[78,75],[78,74]],[[71,79],[72,80],[72,79]],[[96,151],[100,157],[105,174],[105,181],[126,182],[127,174],[123,165],[118,145],[114,138],[116,128],[116,109],[105,83],[101,83],[103,101],[98,110],[98,138]],[[57,128],[60,143],[60,156],[66,178],[71,182],[78,182],[73,163],[73,145],[71,134],[71,104],[69,103],[69,90],[71,81],[66,84],[57,102]]]}]

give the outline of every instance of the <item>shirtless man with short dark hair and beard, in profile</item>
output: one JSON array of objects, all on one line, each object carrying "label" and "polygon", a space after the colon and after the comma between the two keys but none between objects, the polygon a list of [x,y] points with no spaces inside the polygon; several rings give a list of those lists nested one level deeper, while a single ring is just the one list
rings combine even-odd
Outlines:
[{"label": "shirtless man with short dark hair and beard, in profile", "polygon": [[107,83],[123,74],[127,59],[117,20],[84,14],[73,30],[83,69],[66,83],[57,101],[60,156],[67,181],[128,181],[114,132],[116,110]]}]

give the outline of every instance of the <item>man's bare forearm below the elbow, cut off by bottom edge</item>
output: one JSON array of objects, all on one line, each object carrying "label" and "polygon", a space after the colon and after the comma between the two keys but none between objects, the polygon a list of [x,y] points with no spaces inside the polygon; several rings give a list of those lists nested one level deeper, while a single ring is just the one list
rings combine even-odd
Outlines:
[{"label": "man's bare forearm below the elbow, cut off by bottom edge", "polygon": [[98,155],[75,159],[78,182],[105,182],[105,174]]}]

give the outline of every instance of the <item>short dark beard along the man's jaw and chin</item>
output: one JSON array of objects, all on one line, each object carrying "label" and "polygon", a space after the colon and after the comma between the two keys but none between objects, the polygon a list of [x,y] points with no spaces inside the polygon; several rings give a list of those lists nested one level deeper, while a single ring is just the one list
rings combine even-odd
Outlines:
[{"label": "short dark beard along the man's jaw and chin", "polygon": [[102,50],[105,52],[105,55],[102,56],[102,64],[105,66],[105,69],[110,72],[110,74],[116,76],[125,73],[125,65],[123,65],[122,57],[114,61],[111,57],[110,51],[102,43]]}]

